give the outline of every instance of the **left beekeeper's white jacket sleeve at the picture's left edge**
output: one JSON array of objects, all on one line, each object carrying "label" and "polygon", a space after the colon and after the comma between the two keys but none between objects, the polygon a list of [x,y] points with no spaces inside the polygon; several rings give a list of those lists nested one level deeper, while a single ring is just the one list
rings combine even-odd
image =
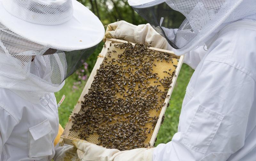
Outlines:
[{"label": "left beekeeper's white jacket sleeve at the picture's left edge", "polygon": [[13,128],[17,125],[17,121],[7,110],[3,105],[0,105],[0,160],[4,160],[6,157],[3,149],[4,144],[10,137]]}]

